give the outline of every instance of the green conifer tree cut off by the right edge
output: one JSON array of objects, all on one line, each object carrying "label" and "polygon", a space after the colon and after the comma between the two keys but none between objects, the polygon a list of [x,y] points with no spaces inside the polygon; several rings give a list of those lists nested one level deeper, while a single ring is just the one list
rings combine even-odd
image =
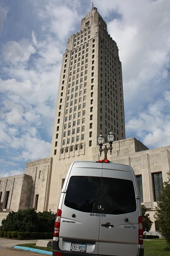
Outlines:
[{"label": "green conifer tree cut off by the right edge", "polygon": [[163,182],[162,192],[157,202],[157,208],[154,215],[157,223],[157,229],[170,245],[170,176],[168,173],[168,181]]}]

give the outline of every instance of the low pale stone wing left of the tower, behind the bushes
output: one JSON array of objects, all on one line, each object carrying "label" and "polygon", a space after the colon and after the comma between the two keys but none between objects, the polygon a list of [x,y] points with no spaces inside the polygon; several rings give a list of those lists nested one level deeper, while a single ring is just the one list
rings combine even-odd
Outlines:
[{"label": "low pale stone wing left of the tower, behind the bushes", "polygon": [[0,221],[11,211],[47,210],[51,166],[51,157],[39,159],[26,163],[23,175],[0,178]]}]

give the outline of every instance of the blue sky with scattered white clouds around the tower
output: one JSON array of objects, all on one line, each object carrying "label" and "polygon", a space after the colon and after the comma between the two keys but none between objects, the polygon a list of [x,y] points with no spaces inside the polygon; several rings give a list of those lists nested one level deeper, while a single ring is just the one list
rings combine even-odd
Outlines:
[{"label": "blue sky with scattered white clouds around the tower", "polygon": [[[170,145],[169,0],[96,0],[119,47],[126,138]],[[89,0],[0,0],[0,176],[50,156],[61,59]]]}]

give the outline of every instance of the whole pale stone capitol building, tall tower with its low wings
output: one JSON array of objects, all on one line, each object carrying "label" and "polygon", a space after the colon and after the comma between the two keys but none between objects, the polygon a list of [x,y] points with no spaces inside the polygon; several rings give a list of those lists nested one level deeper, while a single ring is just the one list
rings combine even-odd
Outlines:
[{"label": "whole pale stone capitol building, tall tower with its low wings", "polygon": [[51,156],[26,163],[21,175],[0,178],[0,225],[11,211],[35,208],[56,212],[70,164],[99,160],[97,138],[102,134],[107,142],[110,131],[115,141],[107,158],[134,169],[141,203],[150,214],[154,231],[161,185],[168,181],[170,145],[149,150],[136,138],[125,139],[118,47],[97,8],[92,7],[63,54]]}]

